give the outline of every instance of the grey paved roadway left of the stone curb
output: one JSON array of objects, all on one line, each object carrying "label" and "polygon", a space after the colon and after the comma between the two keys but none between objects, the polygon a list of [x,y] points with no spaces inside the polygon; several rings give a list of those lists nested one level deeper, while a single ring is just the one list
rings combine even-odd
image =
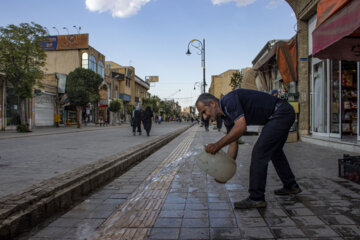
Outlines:
[{"label": "grey paved roadway left of the stone curb", "polygon": [[81,130],[44,128],[30,134],[0,133],[0,197],[21,192],[32,184],[122,152],[186,124],[153,124],[150,137],[146,133],[133,136],[128,124]]}]

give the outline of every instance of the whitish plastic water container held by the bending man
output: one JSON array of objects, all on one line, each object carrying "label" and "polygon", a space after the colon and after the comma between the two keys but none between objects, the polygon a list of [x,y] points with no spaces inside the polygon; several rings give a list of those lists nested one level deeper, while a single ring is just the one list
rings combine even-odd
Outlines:
[{"label": "whitish plastic water container held by the bending man", "polygon": [[196,155],[198,167],[215,178],[219,183],[226,183],[236,173],[236,163],[223,150],[215,155],[207,153],[205,150]]}]

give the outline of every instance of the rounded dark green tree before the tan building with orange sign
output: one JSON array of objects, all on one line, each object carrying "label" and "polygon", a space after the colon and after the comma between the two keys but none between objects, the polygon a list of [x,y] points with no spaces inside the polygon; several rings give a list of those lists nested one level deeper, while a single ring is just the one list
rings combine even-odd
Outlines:
[{"label": "rounded dark green tree before the tan building with orange sign", "polygon": [[78,128],[81,127],[81,111],[89,102],[99,101],[99,88],[103,78],[90,69],[76,68],[67,78],[66,92],[70,103],[76,106]]}]

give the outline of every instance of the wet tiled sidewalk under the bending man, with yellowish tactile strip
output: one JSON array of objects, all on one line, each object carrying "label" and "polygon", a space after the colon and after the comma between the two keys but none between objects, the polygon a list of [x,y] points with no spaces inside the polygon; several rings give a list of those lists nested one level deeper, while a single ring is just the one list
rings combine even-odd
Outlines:
[{"label": "wet tiled sidewalk under the bending man, with yellowish tactile strip", "polygon": [[[360,186],[337,177],[342,152],[307,143],[285,152],[303,192],[279,197],[270,164],[268,207],[234,210],[247,197],[256,136],[243,137],[236,175],[216,183],[195,164],[202,146],[222,136],[197,125],[137,166],[20,239],[347,239],[360,238]],[[351,154],[351,153],[349,153]]]}]

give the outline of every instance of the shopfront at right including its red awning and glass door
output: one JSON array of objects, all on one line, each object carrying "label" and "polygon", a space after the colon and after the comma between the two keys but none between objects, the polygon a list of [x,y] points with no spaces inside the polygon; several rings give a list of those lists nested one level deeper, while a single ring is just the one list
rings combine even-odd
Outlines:
[{"label": "shopfront at right including its red awning and glass door", "polygon": [[[360,1],[321,0],[308,24],[313,135],[360,140]],[[326,60],[324,60],[326,59]]]}]

